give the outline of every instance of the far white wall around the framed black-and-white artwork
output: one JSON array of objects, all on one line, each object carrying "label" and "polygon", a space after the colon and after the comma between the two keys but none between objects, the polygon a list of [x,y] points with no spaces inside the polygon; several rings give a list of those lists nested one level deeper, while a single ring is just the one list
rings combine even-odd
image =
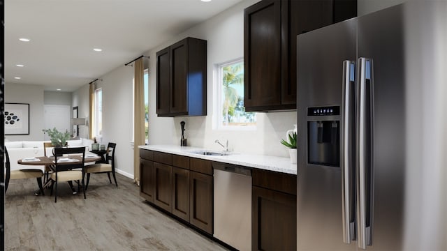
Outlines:
[{"label": "far white wall around the framed black-and-white artwork", "polygon": [[5,135],[6,139],[43,140],[43,86],[5,83],[5,102],[29,104],[29,135]]}]

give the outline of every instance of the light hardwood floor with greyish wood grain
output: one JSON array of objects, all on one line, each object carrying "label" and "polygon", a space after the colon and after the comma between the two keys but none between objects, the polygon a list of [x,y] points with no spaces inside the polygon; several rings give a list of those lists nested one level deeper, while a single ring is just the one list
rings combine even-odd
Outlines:
[{"label": "light hardwood floor with greyish wood grain", "polygon": [[59,185],[35,196],[35,179],[10,181],[5,199],[6,250],[226,250],[149,206],[130,178],[92,174],[87,199]]}]

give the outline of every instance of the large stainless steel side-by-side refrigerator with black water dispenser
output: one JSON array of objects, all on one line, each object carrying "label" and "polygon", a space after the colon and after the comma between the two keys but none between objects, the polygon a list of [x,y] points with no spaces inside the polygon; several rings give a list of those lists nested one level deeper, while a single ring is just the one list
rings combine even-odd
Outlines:
[{"label": "large stainless steel side-by-side refrigerator with black water dispenser", "polygon": [[403,248],[406,11],[298,36],[298,250]]}]

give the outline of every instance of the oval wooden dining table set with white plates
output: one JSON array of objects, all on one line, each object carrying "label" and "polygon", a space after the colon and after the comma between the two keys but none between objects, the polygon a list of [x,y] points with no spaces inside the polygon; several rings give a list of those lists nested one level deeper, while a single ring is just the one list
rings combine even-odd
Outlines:
[{"label": "oval wooden dining table set with white plates", "polygon": [[[62,160],[62,161],[61,161]],[[101,160],[101,156],[96,155],[94,153],[86,153],[84,158],[84,165],[91,165],[94,162]],[[58,157],[59,165],[73,165],[82,161],[81,155],[67,155]],[[30,158],[22,158],[17,160],[17,164],[20,165],[28,165],[28,166],[49,166],[52,167],[54,165],[54,156],[38,156],[38,157],[30,157]],[[51,184],[51,179],[49,178],[45,184],[43,184],[43,188],[47,188]],[[72,187],[73,190],[73,187]],[[40,195],[41,191],[37,190],[34,192],[34,195]]]}]

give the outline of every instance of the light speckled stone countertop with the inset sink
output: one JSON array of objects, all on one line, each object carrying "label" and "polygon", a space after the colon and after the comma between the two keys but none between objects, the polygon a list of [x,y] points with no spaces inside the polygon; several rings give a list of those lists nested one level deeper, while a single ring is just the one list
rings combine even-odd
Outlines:
[{"label": "light speckled stone countertop with the inset sink", "polygon": [[[193,158],[201,158],[204,160],[213,160],[217,162],[224,162],[234,165],[242,165],[245,167],[253,167],[258,169],[265,169],[274,172],[281,172],[286,174],[297,174],[296,164],[291,164],[290,158],[275,157],[268,155],[256,155],[246,153],[230,152],[230,155],[203,155],[193,153],[195,151],[204,151],[198,147],[191,146],[173,146],[173,145],[147,145],[138,146],[139,149],[146,149],[152,151],[160,151],[164,153],[172,153],[177,155],[184,155]],[[212,151],[219,152],[219,151]]]}]

